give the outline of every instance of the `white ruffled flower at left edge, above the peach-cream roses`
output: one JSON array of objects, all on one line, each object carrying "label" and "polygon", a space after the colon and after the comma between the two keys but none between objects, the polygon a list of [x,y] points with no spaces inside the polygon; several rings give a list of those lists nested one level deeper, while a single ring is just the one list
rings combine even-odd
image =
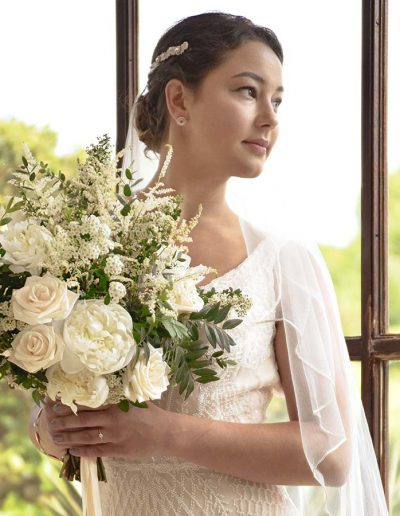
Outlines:
[{"label": "white ruffled flower at left edge, above the peach-cream roses", "polygon": [[46,242],[53,240],[53,236],[45,227],[21,217],[15,215],[7,230],[0,233],[0,244],[6,251],[1,261],[12,272],[39,275],[46,257]]}]

